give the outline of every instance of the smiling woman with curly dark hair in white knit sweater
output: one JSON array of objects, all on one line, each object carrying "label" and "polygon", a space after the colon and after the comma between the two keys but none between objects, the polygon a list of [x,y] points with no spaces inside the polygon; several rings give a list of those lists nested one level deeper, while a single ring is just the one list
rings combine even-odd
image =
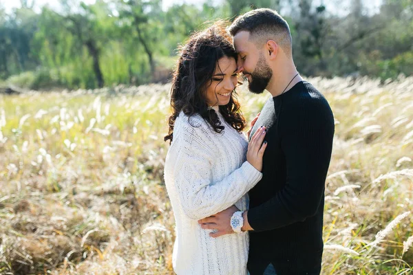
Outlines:
[{"label": "smiling woman with curly dark hair in white knit sweater", "polygon": [[174,73],[165,184],[176,220],[173,269],[178,275],[247,273],[248,234],[213,239],[211,230],[198,224],[234,204],[246,210],[246,192],[262,177],[265,129],[250,144],[242,134],[236,58],[216,23],[191,36]]}]

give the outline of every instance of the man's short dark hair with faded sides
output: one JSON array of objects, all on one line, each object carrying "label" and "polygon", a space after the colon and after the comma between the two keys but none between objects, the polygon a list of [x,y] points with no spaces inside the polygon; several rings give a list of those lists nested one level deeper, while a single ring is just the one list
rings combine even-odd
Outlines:
[{"label": "man's short dark hair with faded sides", "polygon": [[261,47],[273,40],[286,54],[291,54],[291,33],[287,21],[275,10],[260,8],[237,17],[228,28],[231,36],[238,32],[250,33],[249,40]]}]

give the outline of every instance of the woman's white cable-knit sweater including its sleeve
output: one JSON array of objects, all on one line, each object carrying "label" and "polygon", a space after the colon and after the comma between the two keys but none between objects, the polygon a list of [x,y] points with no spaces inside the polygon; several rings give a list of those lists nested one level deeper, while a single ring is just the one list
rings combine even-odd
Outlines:
[{"label": "woman's white cable-knit sweater including its sleeve", "polygon": [[[215,109],[218,112],[218,109]],[[246,274],[248,234],[213,239],[198,219],[229,208],[248,208],[246,192],[262,173],[246,162],[248,143],[218,116],[225,129],[216,133],[200,115],[180,113],[165,161],[165,184],[176,221],[173,270],[178,275]]]}]

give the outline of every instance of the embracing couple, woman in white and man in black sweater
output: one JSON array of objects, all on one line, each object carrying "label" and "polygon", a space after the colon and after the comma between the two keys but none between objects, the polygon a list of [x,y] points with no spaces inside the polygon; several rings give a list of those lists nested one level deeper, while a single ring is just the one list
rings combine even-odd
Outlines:
[{"label": "embracing couple, woman in white and man in black sweater", "polygon": [[[248,137],[238,74],[251,92],[271,94]],[[171,110],[165,184],[176,274],[319,274],[334,119],[295,68],[288,23],[258,9],[193,34]]]}]

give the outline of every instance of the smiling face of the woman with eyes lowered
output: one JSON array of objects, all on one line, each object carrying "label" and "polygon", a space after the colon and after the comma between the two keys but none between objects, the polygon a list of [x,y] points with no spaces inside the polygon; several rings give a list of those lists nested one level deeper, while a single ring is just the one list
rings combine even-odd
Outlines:
[{"label": "smiling face of the woman with eyes lowered", "polygon": [[207,104],[212,106],[226,105],[237,86],[237,63],[235,58],[224,56],[218,60],[207,87]]}]

